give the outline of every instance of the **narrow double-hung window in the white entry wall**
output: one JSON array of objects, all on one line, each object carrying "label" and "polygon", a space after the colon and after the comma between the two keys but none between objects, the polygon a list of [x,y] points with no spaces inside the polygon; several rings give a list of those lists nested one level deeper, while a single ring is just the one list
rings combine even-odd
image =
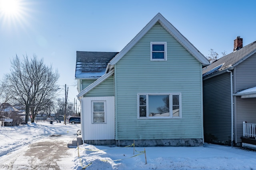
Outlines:
[{"label": "narrow double-hung window in the white entry wall", "polygon": [[106,123],[105,101],[92,101],[92,123]]}]

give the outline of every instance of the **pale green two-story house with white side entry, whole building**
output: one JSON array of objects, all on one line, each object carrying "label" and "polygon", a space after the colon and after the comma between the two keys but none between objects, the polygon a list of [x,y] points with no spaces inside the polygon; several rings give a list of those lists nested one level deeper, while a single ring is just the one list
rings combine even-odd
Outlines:
[{"label": "pale green two-story house with white side entry, whole building", "polygon": [[201,146],[208,64],[160,13],[119,53],[77,51],[82,141]]}]

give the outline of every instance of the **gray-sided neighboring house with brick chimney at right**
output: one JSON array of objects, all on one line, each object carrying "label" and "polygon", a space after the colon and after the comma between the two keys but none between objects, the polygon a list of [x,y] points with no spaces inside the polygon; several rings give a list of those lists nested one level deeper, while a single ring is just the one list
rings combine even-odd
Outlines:
[{"label": "gray-sided neighboring house with brick chimney at right", "polygon": [[[242,146],[241,137],[255,140],[256,41],[203,68],[205,142]],[[243,125],[244,122],[244,125]],[[244,142],[243,142],[244,143]]]}]

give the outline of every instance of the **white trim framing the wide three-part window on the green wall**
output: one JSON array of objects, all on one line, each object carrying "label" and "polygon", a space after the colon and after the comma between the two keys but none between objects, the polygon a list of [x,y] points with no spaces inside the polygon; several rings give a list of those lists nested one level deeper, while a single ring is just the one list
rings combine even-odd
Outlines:
[{"label": "white trim framing the wide three-part window on the green wall", "polygon": [[[146,95],[146,117],[140,117],[140,96],[141,95]],[[150,117],[148,114],[148,95],[169,95],[169,111],[170,111],[170,116],[158,116],[158,117]],[[179,95],[179,111],[180,111],[180,117],[172,117],[172,96],[173,95]],[[182,103],[181,103],[181,93],[138,93],[137,94],[137,118],[138,119],[181,119],[182,118]]]}]

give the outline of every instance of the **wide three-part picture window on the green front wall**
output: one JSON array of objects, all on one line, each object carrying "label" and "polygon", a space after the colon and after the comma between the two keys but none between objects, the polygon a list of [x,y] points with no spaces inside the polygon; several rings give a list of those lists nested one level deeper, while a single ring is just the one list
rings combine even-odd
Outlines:
[{"label": "wide three-part picture window on the green front wall", "polygon": [[138,94],[138,118],[181,118],[181,94]]}]

